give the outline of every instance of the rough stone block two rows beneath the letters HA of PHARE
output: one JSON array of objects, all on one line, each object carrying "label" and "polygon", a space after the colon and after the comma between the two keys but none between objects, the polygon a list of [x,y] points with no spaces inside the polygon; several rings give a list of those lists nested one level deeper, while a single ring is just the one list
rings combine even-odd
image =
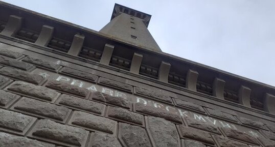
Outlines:
[{"label": "rough stone block two rows beneath the letters HA of PHARE", "polygon": [[97,113],[97,114],[102,114],[105,108],[104,104],[81,99],[81,98],[66,95],[66,94],[63,94],[61,96],[59,104],[85,110],[88,112]]}]

